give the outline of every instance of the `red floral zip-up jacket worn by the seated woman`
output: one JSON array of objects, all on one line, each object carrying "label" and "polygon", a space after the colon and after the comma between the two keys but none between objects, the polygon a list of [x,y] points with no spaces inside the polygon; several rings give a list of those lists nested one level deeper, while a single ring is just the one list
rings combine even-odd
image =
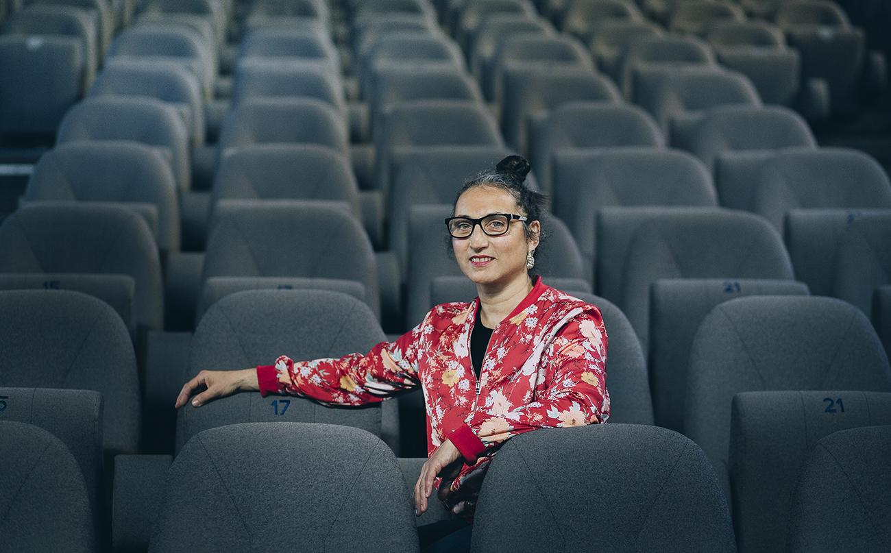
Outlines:
[{"label": "red floral zip-up jacket worn by the seated woman", "polygon": [[428,455],[451,439],[465,461],[450,484],[446,506],[460,499],[467,501],[462,508],[470,507],[504,440],[536,428],[609,418],[607,333],[596,306],[537,279],[492,332],[479,379],[470,362],[478,308],[478,298],[436,305],[414,329],[367,354],[304,362],[282,355],[274,365],[257,367],[260,393],[358,405],[420,385]]}]

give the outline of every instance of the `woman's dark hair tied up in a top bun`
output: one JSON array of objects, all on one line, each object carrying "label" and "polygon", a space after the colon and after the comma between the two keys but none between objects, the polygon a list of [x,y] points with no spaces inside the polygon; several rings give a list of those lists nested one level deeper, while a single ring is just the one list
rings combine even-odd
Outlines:
[{"label": "woman's dark hair tied up in a top bun", "polygon": [[[521,215],[527,216],[528,220],[523,225],[526,232],[527,240],[533,238],[529,224],[533,221],[540,221],[542,209],[547,203],[547,197],[538,191],[531,190],[526,184],[526,175],[529,174],[529,162],[521,156],[508,156],[498,162],[495,169],[486,169],[477,175],[473,175],[469,180],[464,182],[461,190],[454,197],[452,207],[452,215],[454,216],[454,206],[458,204],[461,195],[469,191],[471,188],[478,186],[490,186],[500,188],[513,196],[517,201],[517,206],[523,211]],[[539,227],[541,228],[541,227]],[[542,239],[542,232],[539,232],[538,240]]]}]

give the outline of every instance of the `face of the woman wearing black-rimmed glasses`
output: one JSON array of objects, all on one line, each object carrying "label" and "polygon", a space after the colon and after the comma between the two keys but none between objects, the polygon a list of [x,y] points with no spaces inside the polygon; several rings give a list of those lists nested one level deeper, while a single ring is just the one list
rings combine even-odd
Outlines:
[{"label": "face of the woman wearing black-rimmed glasses", "polygon": [[[454,206],[455,216],[479,218],[493,213],[525,216],[511,193],[491,186],[476,186],[465,191]],[[508,232],[489,236],[475,225],[468,238],[453,238],[452,248],[458,266],[477,284],[508,283],[526,276],[527,252],[538,245],[538,221],[529,224],[533,239],[526,239],[521,221],[511,221]]]}]

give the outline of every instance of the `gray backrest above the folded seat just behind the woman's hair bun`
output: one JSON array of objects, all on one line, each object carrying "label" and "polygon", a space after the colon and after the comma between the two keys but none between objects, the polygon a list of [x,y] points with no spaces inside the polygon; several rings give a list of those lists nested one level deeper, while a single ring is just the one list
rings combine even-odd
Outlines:
[{"label": "gray backrest above the folded seat just behind the woman's hair bun", "polygon": [[385,192],[391,184],[392,161],[405,150],[504,145],[495,118],[485,104],[461,100],[403,102],[388,110],[378,133],[374,141],[374,182]]}]

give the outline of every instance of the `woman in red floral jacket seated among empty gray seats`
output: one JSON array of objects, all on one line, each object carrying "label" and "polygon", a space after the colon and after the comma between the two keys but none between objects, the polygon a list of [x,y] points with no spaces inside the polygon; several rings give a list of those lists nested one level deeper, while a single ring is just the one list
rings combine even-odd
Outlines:
[{"label": "woman in red floral jacket seated among empty gray seats", "polygon": [[[242,390],[356,405],[420,385],[429,459],[414,486],[415,514],[427,510],[436,487],[446,507],[472,520],[488,462],[506,439],[609,418],[600,310],[529,274],[544,196],[523,183],[528,172],[526,159],[503,159],[464,184],[446,219],[455,259],[477,285],[473,302],[437,305],[417,327],[368,354],[307,362],[282,355],[256,369],[202,370],[183,386],[176,408],[200,386],[207,389],[192,398],[196,407]],[[431,541],[425,535],[443,533],[428,526],[419,529],[422,545]],[[455,540],[466,548],[469,538],[466,526],[446,540],[449,548]]]}]

